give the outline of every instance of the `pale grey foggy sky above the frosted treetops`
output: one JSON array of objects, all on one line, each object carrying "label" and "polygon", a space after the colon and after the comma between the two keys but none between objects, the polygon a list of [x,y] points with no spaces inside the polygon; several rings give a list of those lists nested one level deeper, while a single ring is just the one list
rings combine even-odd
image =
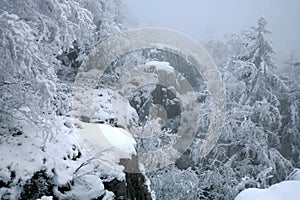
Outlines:
[{"label": "pale grey foggy sky above the frosted treetops", "polygon": [[123,0],[130,27],[171,28],[200,43],[268,21],[279,63],[300,59],[300,0]]}]

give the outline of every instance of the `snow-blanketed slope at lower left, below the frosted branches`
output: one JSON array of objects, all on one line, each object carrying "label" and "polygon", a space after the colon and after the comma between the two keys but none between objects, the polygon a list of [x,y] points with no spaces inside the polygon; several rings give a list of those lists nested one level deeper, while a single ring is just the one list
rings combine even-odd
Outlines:
[{"label": "snow-blanketed slope at lower left, below the frosted branches", "polygon": [[[43,171],[54,181],[53,192],[61,199],[92,199],[101,195],[113,199],[114,194],[105,190],[103,181],[125,180],[124,167],[118,163],[120,158],[136,154],[135,140],[129,133],[109,125],[96,125],[99,129],[93,132],[87,128],[88,124],[81,124],[77,130],[92,139],[90,141],[94,141],[96,148],[109,147],[110,157],[103,152],[104,158],[110,162],[107,165],[86,150],[72,124],[72,120],[62,117],[56,121],[56,131],[41,136],[24,122],[22,132],[0,137],[0,181],[7,185],[0,188],[0,199],[19,198],[22,185],[37,171]],[[99,138],[106,138],[107,143],[102,144]],[[70,188],[62,193],[60,186]]]}]

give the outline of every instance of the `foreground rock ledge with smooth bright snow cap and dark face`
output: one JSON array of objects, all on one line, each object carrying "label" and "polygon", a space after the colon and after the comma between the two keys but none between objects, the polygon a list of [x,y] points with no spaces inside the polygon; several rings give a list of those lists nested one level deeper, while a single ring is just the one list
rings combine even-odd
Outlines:
[{"label": "foreground rock ledge with smooth bright snow cap and dark face", "polygon": [[115,197],[129,199],[151,199],[151,193],[146,185],[146,178],[140,172],[136,141],[125,129],[107,124],[85,123],[80,121],[79,134],[90,153],[101,163],[113,170],[125,173],[125,181],[113,179],[104,182],[107,190]]}]

